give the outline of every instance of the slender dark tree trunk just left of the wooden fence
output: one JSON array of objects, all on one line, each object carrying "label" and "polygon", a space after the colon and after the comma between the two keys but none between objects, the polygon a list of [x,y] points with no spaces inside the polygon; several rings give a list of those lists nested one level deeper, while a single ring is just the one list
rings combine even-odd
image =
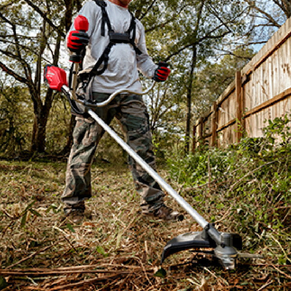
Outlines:
[{"label": "slender dark tree trunk just left of the wooden fence", "polygon": [[191,127],[191,97],[192,97],[192,84],[194,78],[194,68],[196,66],[196,47],[192,47],[192,62],[191,62],[191,69],[189,75],[189,82],[187,88],[187,120],[186,120],[186,136],[185,136],[185,151],[189,153],[190,149],[190,127]]}]

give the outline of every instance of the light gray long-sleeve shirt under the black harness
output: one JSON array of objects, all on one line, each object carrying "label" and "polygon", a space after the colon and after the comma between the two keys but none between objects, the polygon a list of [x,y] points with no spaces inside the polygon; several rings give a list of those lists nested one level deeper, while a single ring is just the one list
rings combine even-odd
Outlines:
[{"label": "light gray long-sleeve shirt under the black harness", "polygon": [[[131,20],[128,9],[120,7],[105,0],[106,11],[114,32],[124,33],[129,29]],[[85,2],[79,12],[89,22],[88,35],[89,44],[86,47],[86,54],[83,60],[83,69],[93,67],[104,49],[109,43],[108,27],[105,24],[105,36],[101,35],[101,8],[94,0]],[[102,75],[94,77],[93,91],[100,93],[113,93],[118,89],[127,88],[136,93],[142,92],[138,70],[148,78],[154,76],[157,67],[147,54],[145,30],[139,20],[135,20],[136,35],[135,45],[142,51],[141,55],[135,53],[129,44],[116,44],[109,54],[108,67]],[[71,30],[74,30],[72,25]],[[103,64],[100,66],[102,68]]]}]

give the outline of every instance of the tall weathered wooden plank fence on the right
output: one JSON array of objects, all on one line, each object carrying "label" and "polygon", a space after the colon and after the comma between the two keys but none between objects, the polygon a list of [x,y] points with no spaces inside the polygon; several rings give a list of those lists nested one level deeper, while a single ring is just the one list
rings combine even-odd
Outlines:
[{"label": "tall weathered wooden plank fence on the right", "polygon": [[242,131],[263,136],[265,120],[291,112],[291,18],[259,50],[193,129],[193,150],[201,143],[224,147]]}]

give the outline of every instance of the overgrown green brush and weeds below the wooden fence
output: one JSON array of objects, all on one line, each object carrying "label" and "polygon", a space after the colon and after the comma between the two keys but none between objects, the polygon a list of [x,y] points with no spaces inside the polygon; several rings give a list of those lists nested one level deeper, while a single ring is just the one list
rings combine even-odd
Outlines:
[{"label": "overgrown green brush and weeds below the wooden fence", "polygon": [[171,158],[171,176],[209,220],[239,232],[249,252],[291,263],[290,118],[268,121],[264,137],[226,149],[203,148]]}]

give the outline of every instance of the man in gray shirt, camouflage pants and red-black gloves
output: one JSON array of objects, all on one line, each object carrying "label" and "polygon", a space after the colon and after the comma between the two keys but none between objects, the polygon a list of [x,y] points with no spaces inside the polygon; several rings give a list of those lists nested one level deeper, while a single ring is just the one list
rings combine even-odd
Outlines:
[{"label": "man in gray shirt, camouflage pants and red-black gloves", "polygon": [[[141,93],[138,70],[155,81],[165,81],[170,73],[167,67],[155,65],[148,56],[144,27],[129,13],[130,1],[88,0],[79,12],[88,19],[87,34],[74,31],[72,26],[67,35],[67,47],[71,51],[80,51],[87,45],[82,65],[83,71],[91,74],[90,82],[87,78],[84,84],[86,96],[93,102],[104,101],[118,89]],[[107,124],[115,116],[129,146],[155,169],[148,113],[140,95],[120,94],[95,112]],[[62,195],[65,214],[76,220],[85,214],[84,200],[91,197],[91,163],[103,133],[90,116],[76,117]],[[132,158],[129,158],[129,167],[141,195],[142,213],[165,220],[182,219],[177,211],[164,205],[160,186]]]}]

